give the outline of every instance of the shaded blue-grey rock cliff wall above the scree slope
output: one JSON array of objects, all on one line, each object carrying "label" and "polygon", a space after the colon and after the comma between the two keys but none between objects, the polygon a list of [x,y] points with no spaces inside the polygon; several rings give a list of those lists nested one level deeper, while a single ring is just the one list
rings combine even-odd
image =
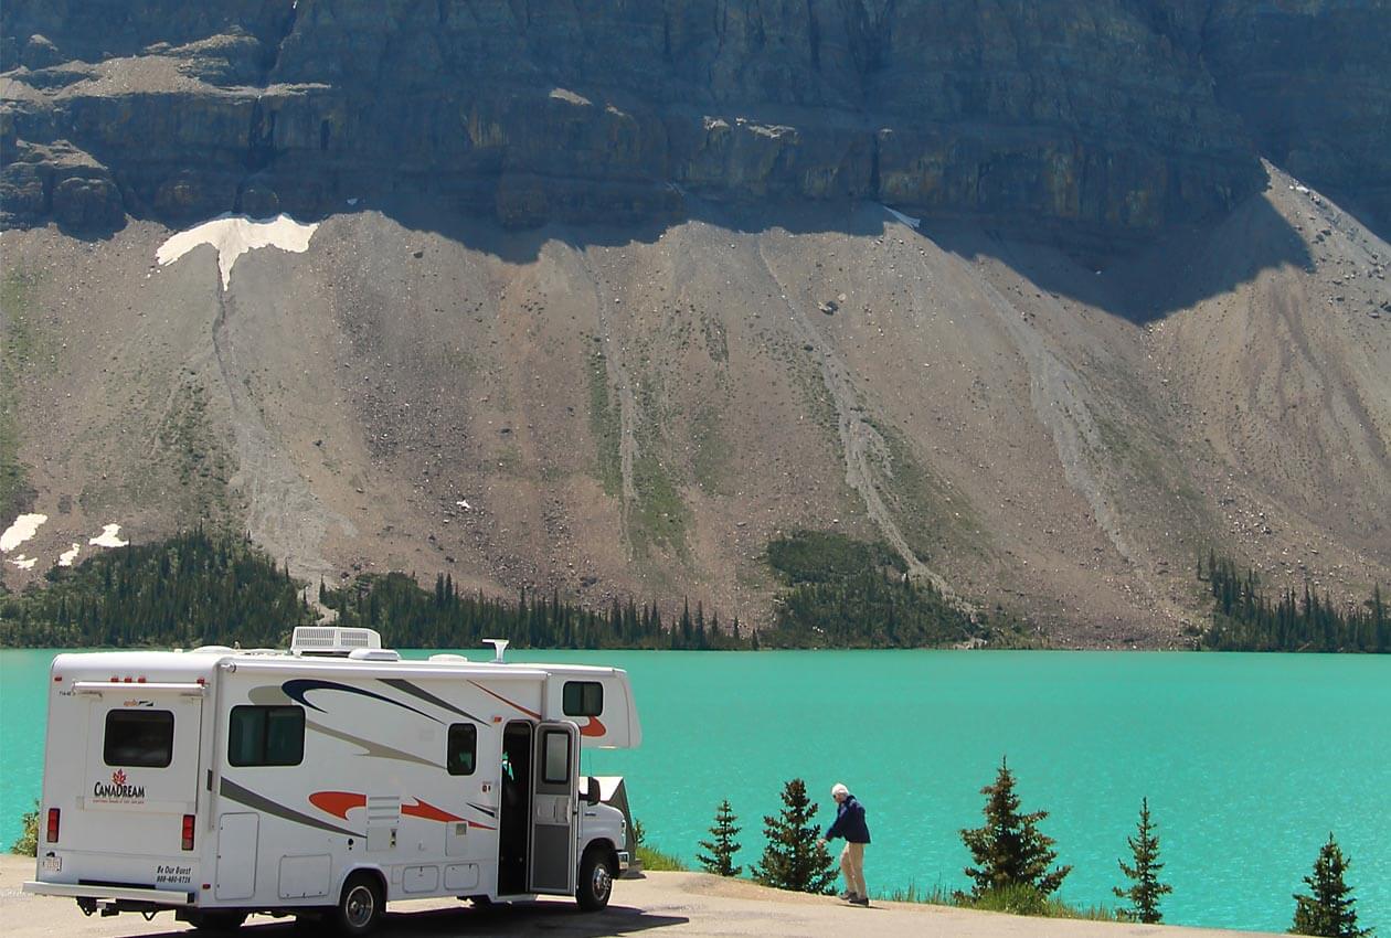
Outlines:
[{"label": "shaded blue-grey rock cliff wall above the scree slope", "polygon": [[[1097,245],[1224,214],[1263,185],[1257,146],[1316,182],[1380,178],[1367,200],[1385,200],[1380,1],[15,0],[3,17],[10,224],[323,214],[402,190],[515,227],[672,218],[689,195],[857,197]],[[1369,97],[1380,111],[1319,106]]]}]

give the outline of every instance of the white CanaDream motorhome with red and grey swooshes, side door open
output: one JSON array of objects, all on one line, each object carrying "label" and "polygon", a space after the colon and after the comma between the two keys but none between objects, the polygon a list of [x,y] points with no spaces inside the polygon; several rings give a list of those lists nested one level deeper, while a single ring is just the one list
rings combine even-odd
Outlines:
[{"label": "white CanaDream motorhome with red and grey swooshes, side door open", "polygon": [[210,930],[328,916],[348,934],[406,898],[602,909],[632,834],[580,749],[641,742],[627,674],[495,646],[408,661],[370,630],[310,627],[288,653],[57,656],[25,892]]}]

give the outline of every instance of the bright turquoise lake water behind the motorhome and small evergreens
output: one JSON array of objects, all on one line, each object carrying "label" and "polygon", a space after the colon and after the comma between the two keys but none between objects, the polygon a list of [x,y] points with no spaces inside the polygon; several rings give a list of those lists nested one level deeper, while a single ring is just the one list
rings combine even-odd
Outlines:
[{"label": "bright turquoise lake water behind the motorhome and small evergreens", "polygon": [[[470,652],[465,652],[470,653]],[[472,652],[479,657],[485,653]],[[0,844],[39,793],[53,652],[0,650]],[[1359,924],[1391,935],[1391,657],[1103,652],[534,652],[509,660],[629,670],[644,742],[594,752],[629,780],[648,842],[687,860],[729,798],[737,862],[803,777],[830,813],[868,809],[871,891],[967,885],[958,835],[1007,755],[1024,810],[1072,874],[1061,895],[1114,905],[1141,798],[1159,824],[1166,921],[1284,931],[1333,831]],[[619,895],[622,900],[622,894]]]}]

